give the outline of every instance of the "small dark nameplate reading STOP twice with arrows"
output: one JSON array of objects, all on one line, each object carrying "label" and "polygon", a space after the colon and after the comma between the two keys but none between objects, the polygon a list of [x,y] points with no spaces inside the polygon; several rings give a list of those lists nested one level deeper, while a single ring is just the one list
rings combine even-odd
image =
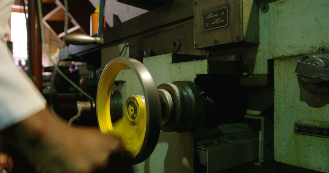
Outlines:
[{"label": "small dark nameplate reading STOP twice with arrows", "polygon": [[202,16],[202,31],[228,27],[228,6],[205,12]]}]

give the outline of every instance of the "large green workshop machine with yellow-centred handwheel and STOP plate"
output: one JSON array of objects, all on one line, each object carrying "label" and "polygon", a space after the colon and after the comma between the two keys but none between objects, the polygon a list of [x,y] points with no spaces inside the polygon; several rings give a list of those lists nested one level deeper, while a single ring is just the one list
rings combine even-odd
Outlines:
[{"label": "large green workshop machine with yellow-centred handwheel and STOP plate", "polygon": [[329,172],[329,1],[118,1],[149,11],[60,52],[95,98],[73,123],[135,172]]}]

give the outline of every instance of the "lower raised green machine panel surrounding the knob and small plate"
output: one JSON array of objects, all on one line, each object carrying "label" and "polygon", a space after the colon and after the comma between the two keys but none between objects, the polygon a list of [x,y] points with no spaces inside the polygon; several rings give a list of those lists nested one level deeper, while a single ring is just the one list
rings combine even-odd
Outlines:
[{"label": "lower raised green machine panel surrounding the knob and small plate", "polygon": [[298,85],[293,71],[299,59],[274,61],[274,157],[278,162],[328,172],[329,139],[294,133],[295,123],[329,126],[329,97]]}]

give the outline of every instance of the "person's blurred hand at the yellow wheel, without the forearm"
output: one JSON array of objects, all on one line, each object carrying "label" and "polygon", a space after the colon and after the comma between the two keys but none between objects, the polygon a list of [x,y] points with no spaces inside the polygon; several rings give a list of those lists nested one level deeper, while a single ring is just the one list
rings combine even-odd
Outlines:
[{"label": "person's blurred hand at the yellow wheel, without the forearm", "polygon": [[41,172],[50,172],[49,168],[54,172],[92,172],[105,169],[114,159],[124,159],[120,158],[124,154],[120,140],[94,128],[70,127],[60,134],[45,136],[44,144],[44,156],[29,154]]}]

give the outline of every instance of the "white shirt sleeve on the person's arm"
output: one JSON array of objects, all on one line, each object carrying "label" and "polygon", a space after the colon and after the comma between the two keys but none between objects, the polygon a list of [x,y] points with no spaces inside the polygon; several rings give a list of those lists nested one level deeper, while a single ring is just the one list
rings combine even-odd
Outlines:
[{"label": "white shirt sleeve on the person's arm", "polygon": [[46,100],[27,74],[14,65],[5,36],[13,0],[0,0],[0,130],[38,113]]}]

